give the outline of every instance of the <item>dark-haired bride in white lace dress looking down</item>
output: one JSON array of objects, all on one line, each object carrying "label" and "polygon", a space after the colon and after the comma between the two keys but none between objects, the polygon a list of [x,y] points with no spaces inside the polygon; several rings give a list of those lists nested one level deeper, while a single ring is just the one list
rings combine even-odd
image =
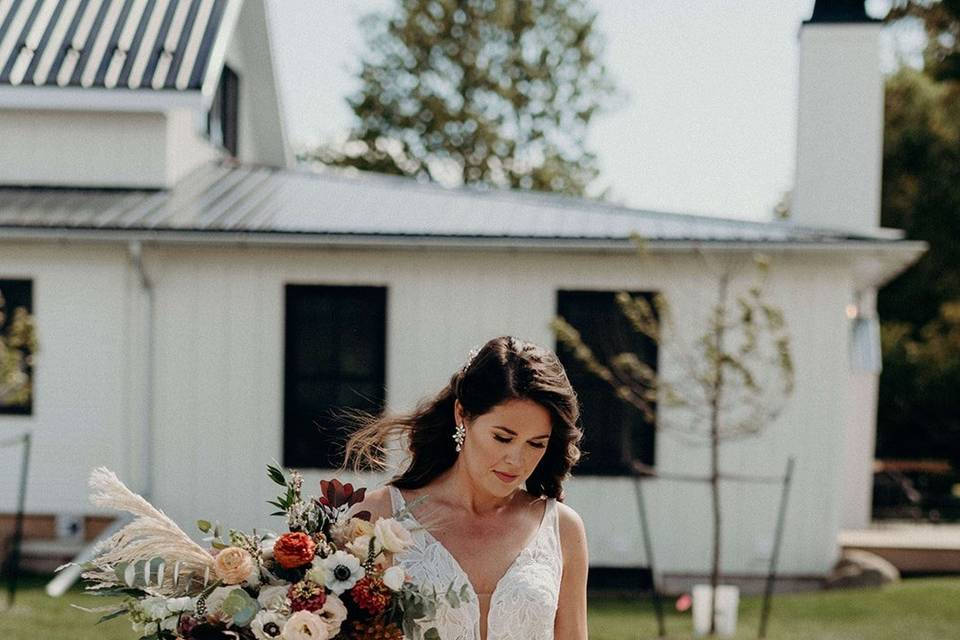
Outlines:
[{"label": "dark-haired bride in white lace dress looking down", "polygon": [[580,456],[578,414],[556,355],[501,337],[414,412],[371,418],[350,438],[348,460],[382,465],[386,441],[404,437],[408,466],[356,510],[376,519],[409,504],[414,545],[396,563],[469,596],[459,607],[441,597],[424,629],[442,640],[587,637],[586,535],[561,502]]}]

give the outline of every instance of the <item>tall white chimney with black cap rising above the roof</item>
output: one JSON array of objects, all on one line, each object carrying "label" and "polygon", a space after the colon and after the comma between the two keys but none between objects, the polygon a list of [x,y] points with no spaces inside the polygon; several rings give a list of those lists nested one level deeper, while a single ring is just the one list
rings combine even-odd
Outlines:
[{"label": "tall white chimney with black cap rising above the roof", "polygon": [[880,226],[882,23],[863,0],[816,0],[800,29],[797,225],[870,233]]}]

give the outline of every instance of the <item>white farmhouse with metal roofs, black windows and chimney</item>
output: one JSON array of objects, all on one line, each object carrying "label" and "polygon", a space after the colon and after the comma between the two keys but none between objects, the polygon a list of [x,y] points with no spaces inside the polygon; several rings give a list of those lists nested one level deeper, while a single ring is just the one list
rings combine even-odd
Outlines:
[{"label": "white farmhouse with metal roofs, black windows and chimney", "polygon": [[[86,501],[98,465],[188,528],[279,527],[265,465],[329,477],[332,408],[410,408],[488,338],[555,345],[558,313],[598,345],[621,332],[619,290],[663,293],[694,335],[715,295],[702,256],[763,252],[796,391],[722,462],[776,475],[796,458],[780,572],[820,580],[840,529],[869,521],[875,292],[923,250],[879,228],[880,27],[852,5],[818,0],[801,28],[795,207],[760,223],[297,170],[262,0],[0,0],[0,290],[41,345],[32,400],[0,407],[0,440],[32,434],[32,530],[102,515]],[[595,584],[631,582],[649,561],[624,469],[702,473],[706,450],[571,372],[588,455],[567,501]],[[19,451],[0,449],[4,535],[19,473]],[[643,483],[656,569],[681,587],[709,568],[708,492]],[[779,487],[729,485],[723,500],[723,570],[749,583]]]}]

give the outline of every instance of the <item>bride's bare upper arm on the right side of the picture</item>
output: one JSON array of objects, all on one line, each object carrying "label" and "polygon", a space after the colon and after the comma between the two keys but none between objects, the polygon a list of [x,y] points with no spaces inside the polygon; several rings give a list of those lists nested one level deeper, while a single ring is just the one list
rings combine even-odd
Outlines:
[{"label": "bride's bare upper arm on the right side of the picture", "polygon": [[577,512],[563,503],[560,509],[560,548],[563,578],[554,623],[555,640],[587,640],[587,534]]}]

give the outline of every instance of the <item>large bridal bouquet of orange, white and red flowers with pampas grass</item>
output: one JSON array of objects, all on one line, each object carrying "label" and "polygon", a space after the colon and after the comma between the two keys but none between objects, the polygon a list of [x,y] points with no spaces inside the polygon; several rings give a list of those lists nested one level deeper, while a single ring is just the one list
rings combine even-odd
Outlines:
[{"label": "large bridal bouquet of orange, white and red flowers with pampas grass", "polygon": [[[223,535],[200,520],[209,548],[113,472],[96,469],[94,504],[135,519],[82,565],[88,591],[126,597],[88,611],[105,613],[100,621],[128,615],[140,640],[402,640],[429,624],[440,597],[454,607],[467,599],[465,589],[420,587],[393,564],[412,544],[400,522],[409,506],[371,522],[367,511],[347,515],[365,489],[324,480],[319,496],[304,497],[300,474],[267,469],[284,488],[271,515],[284,516],[288,531]],[[423,637],[439,635],[431,627]]]}]

